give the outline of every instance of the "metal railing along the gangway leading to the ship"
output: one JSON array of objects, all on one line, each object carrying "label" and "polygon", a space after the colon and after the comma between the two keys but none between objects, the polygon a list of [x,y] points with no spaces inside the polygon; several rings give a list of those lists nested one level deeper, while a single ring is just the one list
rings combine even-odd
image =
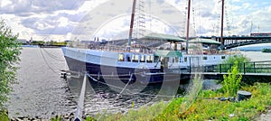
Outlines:
[{"label": "metal railing along the gangway leading to the ship", "polygon": [[[204,72],[228,72],[233,67],[233,63],[203,67]],[[271,61],[252,61],[238,63],[239,73],[271,73]]]}]

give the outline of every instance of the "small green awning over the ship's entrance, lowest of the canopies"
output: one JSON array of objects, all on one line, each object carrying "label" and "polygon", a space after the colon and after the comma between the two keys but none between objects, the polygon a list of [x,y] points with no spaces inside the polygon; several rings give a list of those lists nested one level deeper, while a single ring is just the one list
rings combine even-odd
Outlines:
[{"label": "small green awning over the ship's entrance, lowest of the canopies", "polygon": [[181,51],[162,51],[158,50],[154,52],[154,56],[161,56],[161,57],[182,57]]}]

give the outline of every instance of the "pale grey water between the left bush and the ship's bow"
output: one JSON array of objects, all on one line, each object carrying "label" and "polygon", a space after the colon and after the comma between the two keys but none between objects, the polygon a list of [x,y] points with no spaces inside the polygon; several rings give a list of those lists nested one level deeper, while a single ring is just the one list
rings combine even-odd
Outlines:
[{"label": "pale grey water between the left bush and the ship's bow", "polygon": [[[49,58],[39,48],[23,48],[20,69],[17,72],[18,84],[10,95],[8,110],[10,116],[51,116],[70,112],[75,103],[59,70],[68,68],[60,49],[48,49],[60,61]],[[48,62],[48,65],[43,60]]]}]

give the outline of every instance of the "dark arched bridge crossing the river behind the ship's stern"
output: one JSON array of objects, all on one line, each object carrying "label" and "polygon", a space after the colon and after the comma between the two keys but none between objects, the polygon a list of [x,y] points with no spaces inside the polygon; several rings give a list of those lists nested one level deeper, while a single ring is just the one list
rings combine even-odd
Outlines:
[{"label": "dark arched bridge crossing the river behind the ship's stern", "polygon": [[[217,42],[220,42],[220,37],[202,37],[205,39],[215,39]],[[245,46],[249,44],[257,43],[266,43],[271,42],[271,37],[264,36],[232,36],[232,37],[223,37],[223,50],[228,50],[231,48]]]}]

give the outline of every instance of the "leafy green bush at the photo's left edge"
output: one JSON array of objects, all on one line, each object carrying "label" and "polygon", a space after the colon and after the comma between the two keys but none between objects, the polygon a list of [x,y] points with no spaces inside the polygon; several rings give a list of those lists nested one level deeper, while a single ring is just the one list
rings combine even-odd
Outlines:
[{"label": "leafy green bush at the photo's left edge", "polygon": [[22,49],[17,37],[18,34],[14,35],[5,21],[0,20],[0,110],[12,91],[11,85],[16,82],[16,65]]}]

